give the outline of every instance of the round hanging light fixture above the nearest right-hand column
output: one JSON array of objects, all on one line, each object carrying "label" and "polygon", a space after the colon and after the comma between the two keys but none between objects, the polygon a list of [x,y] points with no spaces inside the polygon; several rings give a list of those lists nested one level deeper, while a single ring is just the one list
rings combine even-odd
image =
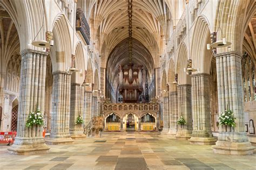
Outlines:
[{"label": "round hanging light fixture above the nearest right-hand column", "polygon": [[[219,13],[219,8],[220,8],[220,0],[218,0],[218,21],[219,21],[219,27],[218,30],[216,31],[216,33],[218,33],[218,31],[220,30],[221,36],[222,36],[222,40],[217,40],[215,42],[213,42],[212,44],[207,44],[207,49],[211,49],[212,48],[222,48],[222,47],[230,47],[231,42],[227,41],[223,30],[220,27],[220,13]],[[231,48],[228,48],[231,49]]]}]

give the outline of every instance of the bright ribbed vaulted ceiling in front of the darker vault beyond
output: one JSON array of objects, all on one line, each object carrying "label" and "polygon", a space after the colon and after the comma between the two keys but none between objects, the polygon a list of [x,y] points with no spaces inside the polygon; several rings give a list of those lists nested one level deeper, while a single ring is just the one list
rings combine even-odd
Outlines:
[{"label": "bright ribbed vaulted ceiling in front of the darker vault beyond", "polygon": [[[110,54],[113,54],[113,49],[129,37],[129,1],[87,1],[87,8],[90,9],[87,15],[91,28],[94,28],[91,30],[91,38],[98,45],[99,53],[105,61],[112,56]],[[150,54],[145,57],[152,58],[154,63],[159,59],[168,32],[166,27],[171,18],[170,5],[171,1],[164,0],[132,0],[132,38],[141,46],[133,48],[133,58],[140,58],[141,52],[137,50],[143,47]],[[115,57],[125,58],[125,53],[125,50],[120,51]]]}]

